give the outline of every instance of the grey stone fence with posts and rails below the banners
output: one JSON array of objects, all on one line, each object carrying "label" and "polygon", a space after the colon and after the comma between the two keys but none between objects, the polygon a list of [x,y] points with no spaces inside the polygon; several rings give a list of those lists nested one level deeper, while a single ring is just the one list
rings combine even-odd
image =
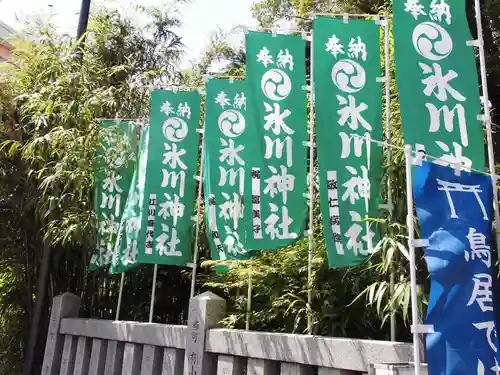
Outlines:
[{"label": "grey stone fence with posts and rails below the banners", "polygon": [[175,326],[80,319],[80,299],[57,296],[42,375],[412,373],[397,369],[411,361],[411,344],[219,329],[225,304],[210,292],[196,296],[188,325]]}]

